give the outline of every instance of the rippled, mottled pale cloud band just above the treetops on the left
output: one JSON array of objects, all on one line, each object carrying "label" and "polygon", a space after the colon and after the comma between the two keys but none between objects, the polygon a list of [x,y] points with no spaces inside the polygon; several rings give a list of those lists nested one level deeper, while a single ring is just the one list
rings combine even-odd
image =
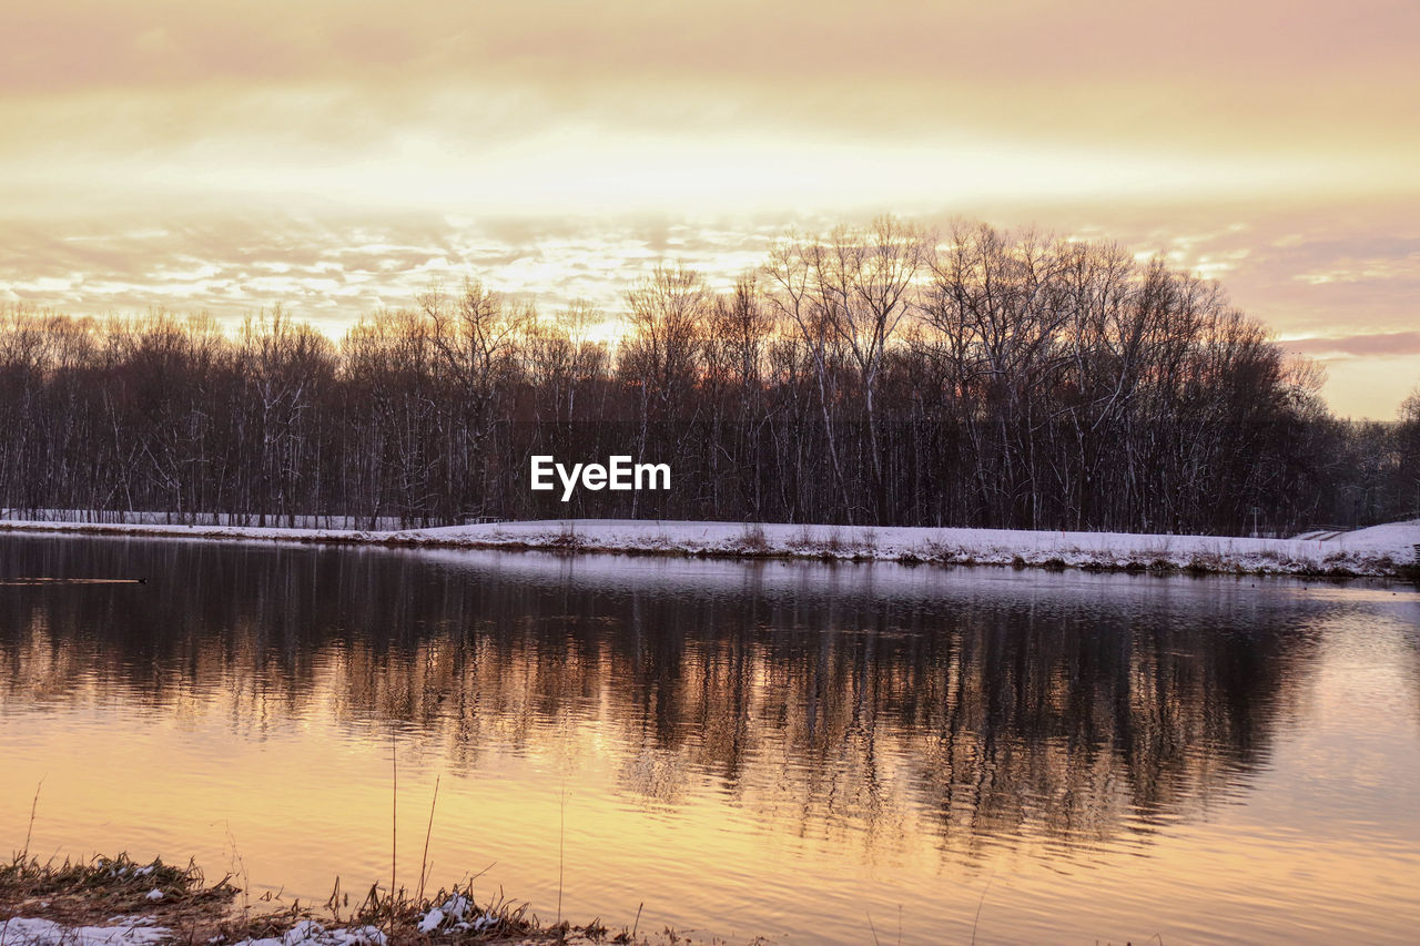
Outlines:
[{"label": "rippled, mottled pale cloud band just above the treetops on the left", "polygon": [[6,300],[75,314],[207,311],[236,320],[284,305],[332,335],[379,308],[415,305],[435,284],[477,278],[535,298],[548,311],[585,298],[618,311],[653,266],[676,260],[728,287],[763,261],[775,229],[699,227],[663,220],[450,220],[405,214],[383,222],[260,213],[183,217],[135,227],[108,217],[13,227],[0,260]]}]

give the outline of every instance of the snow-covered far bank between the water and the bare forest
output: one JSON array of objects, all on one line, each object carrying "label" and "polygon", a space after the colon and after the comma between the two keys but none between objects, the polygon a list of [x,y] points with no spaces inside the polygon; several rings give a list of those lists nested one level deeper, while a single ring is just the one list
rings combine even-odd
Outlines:
[{"label": "snow-covered far bank between the water and the bare forest", "polygon": [[1404,574],[1420,543],[1420,520],[1329,538],[655,520],[538,520],[402,531],[0,521],[0,531],[1336,577]]}]

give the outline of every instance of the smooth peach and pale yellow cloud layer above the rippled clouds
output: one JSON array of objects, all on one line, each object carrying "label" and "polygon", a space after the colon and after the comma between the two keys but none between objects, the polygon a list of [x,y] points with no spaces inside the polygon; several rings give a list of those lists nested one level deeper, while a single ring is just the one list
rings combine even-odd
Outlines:
[{"label": "smooth peach and pale yellow cloud layer above the rippled clouds", "polygon": [[[707,145],[723,159],[731,141],[782,161],[772,145],[790,139],[829,159],[851,145],[866,165],[929,149],[957,178],[1004,159],[1025,187],[1061,165],[1056,186],[1092,168],[1118,186],[1179,186],[1190,166],[1208,185],[1221,163],[1252,186],[1271,169],[1315,192],[1404,186],[1420,149],[1420,13],[1383,0],[899,0],[870,16],[747,0],[11,7],[0,122],[23,132],[0,139],[0,179],[6,153],[28,173],[87,155],[121,159],[129,180],[204,166],[231,180],[233,166],[429,168],[557,141],[565,176],[613,139],[683,139],[679,162]],[[1058,153],[1015,161],[1035,148]],[[199,175],[199,190],[212,183]]]}]

